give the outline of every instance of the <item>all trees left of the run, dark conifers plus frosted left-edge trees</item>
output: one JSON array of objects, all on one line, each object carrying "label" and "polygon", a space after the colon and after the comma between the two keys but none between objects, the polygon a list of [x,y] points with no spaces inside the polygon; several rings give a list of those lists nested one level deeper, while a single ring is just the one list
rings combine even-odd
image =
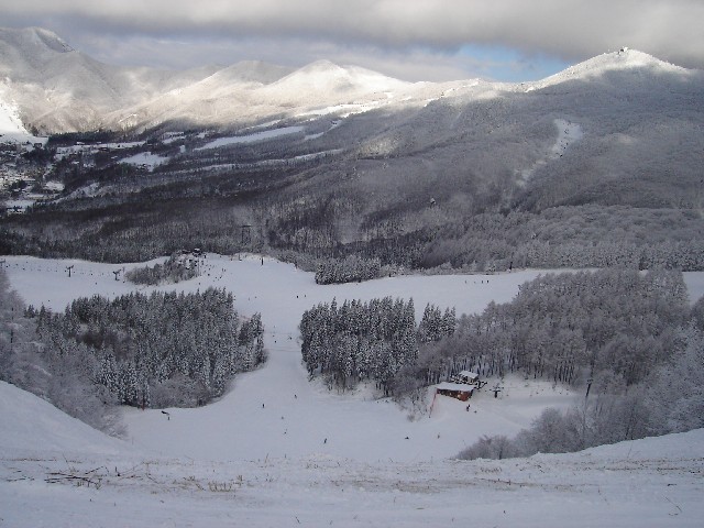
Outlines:
[{"label": "all trees left of the run, dark conifers plus frosted left-edge trees", "polygon": [[94,296],[53,314],[23,307],[1,278],[2,380],[101,429],[117,404],[205,405],[266,359],[261,317],[239,317],[224,290]]}]

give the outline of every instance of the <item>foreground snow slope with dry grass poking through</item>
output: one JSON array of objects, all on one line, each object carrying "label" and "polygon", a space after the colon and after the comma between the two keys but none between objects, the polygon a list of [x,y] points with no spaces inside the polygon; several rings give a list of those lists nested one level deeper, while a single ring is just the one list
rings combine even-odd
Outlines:
[{"label": "foreground snow slope with dry grass poking through", "polygon": [[84,430],[11,385],[0,397],[0,519],[12,527],[697,527],[704,514],[704,430],[504,461],[221,462]]}]

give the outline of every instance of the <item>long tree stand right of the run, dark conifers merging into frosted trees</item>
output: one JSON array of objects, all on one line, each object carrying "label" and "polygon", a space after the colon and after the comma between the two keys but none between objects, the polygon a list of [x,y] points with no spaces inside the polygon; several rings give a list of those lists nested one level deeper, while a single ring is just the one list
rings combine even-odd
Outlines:
[{"label": "long tree stand right of the run, dark conifers merging into frosted trees", "polygon": [[[458,319],[453,310],[429,305],[417,327],[411,308],[413,299],[385,298],[308,310],[300,331],[310,375],[323,376],[330,387],[374,382],[384,394],[411,403],[421,402],[429,385],[462,370],[482,377],[520,373],[581,387],[592,394],[581,416],[594,415],[584,422],[591,429],[580,432],[581,443],[571,443],[574,449],[675,430],[667,425],[671,417],[654,420],[641,407],[642,416],[634,414],[632,406],[646,405],[644,394],[654,378],[660,380],[659,402],[670,402],[658,407],[663,414],[674,413],[678,397],[692,397],[689,382],[682,382],[689,385],[681,393],[670,388],[676,383],[669,373],[678,369],[668,366],[678,361],[697,365],[692,354],[698,334],[686,329],[704,329],[704,304],[690,309],[680,272],[547,274],[521,285],[513,301],[492,302],[479,315]],[[702,364],[693,370],[698,376]],[[563,419],[560,413],[546,416],[552,422]],[[620,421],[610,427],[605,420]],[[504,440],[494,442],[503,446]]]}]

